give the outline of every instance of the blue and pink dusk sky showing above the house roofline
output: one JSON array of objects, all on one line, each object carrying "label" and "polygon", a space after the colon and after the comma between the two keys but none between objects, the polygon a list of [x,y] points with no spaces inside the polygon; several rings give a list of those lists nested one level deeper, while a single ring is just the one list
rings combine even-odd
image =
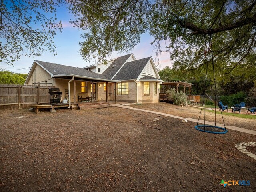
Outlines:
[{"label": "blue and pink dusk sky showing above the house roofline", "polygon": [[[90,64],[96,63],[98,60],[91,60],[90,62],[85,62],[82,56],[79,54],[80,46],[79,42],[84,41],[80,35],[83,33],[79,31],[78,28],[74,28],[72,24],[69,23],[69,20],[73,19],[71,13],[68,12],[68,9],[62,7],[57,9],[57,18],[62,21],[62,33],[57,32],[54,37],[54,43],[57,49],[58,54],[54,56],[54,54],[50,52],[45,52],[42,56],[29,58],[29,57],[21,57],[20,60],[14,62],[13,66],[9,66],[7,64],[1,63],[1,68],[5,70],[11,70],[15,73],[28,73],[30,67],[33,64],[34,60],[41,60],[45,62],[52,62],[57,64],[63,64],[68,66],[75,67],[85,67]],[[141,59],[145,57],[152,56],[155,60],[156,51],[154,50],[154,46],[150,45],[153,41],[153,37],[149,34],[143,34],[141,36],[140,43],[134,47],[131,52],[128,53],[118,53],[113,52],[112,58],[116,58],[118,56],[122,56],[125,54],[133,53],[136,59]],[[164,46],[164,42],[163,42]],[[107,58],[109,59],[109,58]],[[158,64],[157,61],[156,65]],[[165,66],[171,66],[171,62],[169,61],[169,53],[162,53],[160,58],[161,69]],[[160,66],[158,66],[159,68]]]}]

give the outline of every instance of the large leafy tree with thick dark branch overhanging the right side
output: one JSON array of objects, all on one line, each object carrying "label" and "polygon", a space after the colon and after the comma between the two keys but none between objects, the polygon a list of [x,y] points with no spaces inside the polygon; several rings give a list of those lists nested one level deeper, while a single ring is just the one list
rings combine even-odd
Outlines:
[{"label": "large leafy tree with thick dark branch overhanging the right side", "polygon": [[85,41],[80,42],[85,60],[128,52],[148,32],[158,52],[170,52],[176,69],[205,70],[212,50],[215,69],[222,77],[234,69],[256,72],[255,0],[68,2],[76,17],[73,23],[85,31]]}]

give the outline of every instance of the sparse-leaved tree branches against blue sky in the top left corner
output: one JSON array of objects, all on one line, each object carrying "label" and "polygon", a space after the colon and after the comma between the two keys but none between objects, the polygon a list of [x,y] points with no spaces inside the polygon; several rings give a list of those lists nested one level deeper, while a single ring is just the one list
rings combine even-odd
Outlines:
[{"label": "sparse-leaved tree branches against blue sky in the top left corner", "polygon": [[57,22],[60,0],[1,0],[0,62],[12,65],[20,56],[40,56],[45,50],[56,54],[53,38],[62,29]]}]

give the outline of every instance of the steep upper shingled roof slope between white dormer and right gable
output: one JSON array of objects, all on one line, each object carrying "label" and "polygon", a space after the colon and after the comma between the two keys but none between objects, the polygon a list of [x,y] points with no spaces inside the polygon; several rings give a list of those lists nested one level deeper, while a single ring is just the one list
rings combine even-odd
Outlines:
[{"label": "steep upper shingled roof slope between white dormer and right gable", "polygon": [[116,58],[116,60],[112,62],[112,64],[102,73],[102,75],[106,76],[108,79],[112,79],[131,55],[132,53]]}]

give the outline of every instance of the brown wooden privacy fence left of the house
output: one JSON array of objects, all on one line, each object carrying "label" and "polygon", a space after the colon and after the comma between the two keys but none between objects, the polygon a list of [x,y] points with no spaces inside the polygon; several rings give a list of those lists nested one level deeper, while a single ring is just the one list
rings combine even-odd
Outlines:
[{"label": "brown wooden privacy fence left of the house", "polygon": [[2,109],[28,108],[33,104],[50,103],[49,88],[52,86],[0,84]]}]

